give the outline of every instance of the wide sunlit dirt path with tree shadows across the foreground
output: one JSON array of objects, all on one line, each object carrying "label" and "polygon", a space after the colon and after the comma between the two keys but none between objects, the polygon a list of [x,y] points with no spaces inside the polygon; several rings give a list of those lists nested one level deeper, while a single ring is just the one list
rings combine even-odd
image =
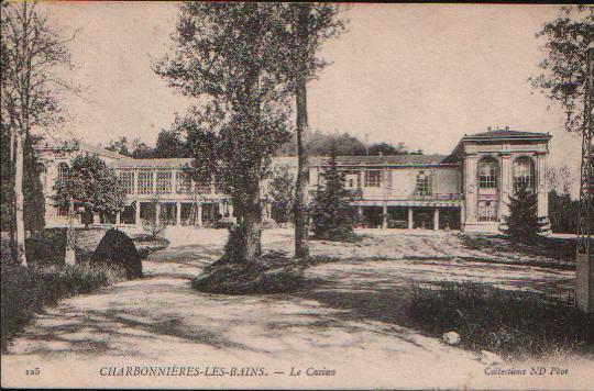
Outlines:
[{"label": "wide sunlit dirt path with tree shadows across the foreground", "polygon": [[[271,232],[265,243],[284,247],[287,237]],[[191,278],[220,256],[223,239],[216,233],[194,237],[200,245],[172,243],[143,262],[146,278],[48,309],[14,340],[11,354],[2,356],[3,386],[12,379],[28,386],[173,387],[170,378],[100,375],[105,368],[157,362],[202,370],[250,366],[267,373],[175,379],[177,387],[194,388],[488,387],[497,380],[484,375],[485,366],[473,354],[407,327],[402,311],[411,281],[493,279],[492,266],[351,261],[310,268],[307,286],[294,294],[228,297],[190,289]],[[497,278],[509,283],[515,283],[510,276],[535,277],[534,268],[493,267],[503,272]],[[571,279],[563,271],[537,272],[558,287]],[[32,367],[42,373],[24,377]],[[301,369],[301,376],[289,376],[292,368]],[[337,372],[305,376],[307,368]]]}]

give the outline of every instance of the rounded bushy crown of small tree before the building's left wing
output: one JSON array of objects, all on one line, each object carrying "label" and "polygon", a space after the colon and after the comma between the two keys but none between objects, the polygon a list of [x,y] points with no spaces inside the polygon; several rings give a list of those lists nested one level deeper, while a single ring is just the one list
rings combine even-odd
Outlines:
[{"label": "rounded bushy crown of small tree before the building's left wing", "polygon": [[97,155],[81,154],[73,158],[63,178],[57,178],[53,197],[56,205],[73,200],[85,208],[85,214],[113,214],[123,210],[125,190],[112,168]]}]

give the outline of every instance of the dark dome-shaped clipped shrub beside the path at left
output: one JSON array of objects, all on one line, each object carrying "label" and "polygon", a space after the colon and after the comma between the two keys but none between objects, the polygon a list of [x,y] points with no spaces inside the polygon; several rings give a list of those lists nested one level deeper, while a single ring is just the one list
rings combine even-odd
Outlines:
[{"label": "dark dome-shaped clipped shrub beside the path at left", "polygon": [[127,234],[118,230],[109,230],[91,257],[91,264],[119,266],[125,270],[127,278],[142,277],[141,255],[134,242]]}]

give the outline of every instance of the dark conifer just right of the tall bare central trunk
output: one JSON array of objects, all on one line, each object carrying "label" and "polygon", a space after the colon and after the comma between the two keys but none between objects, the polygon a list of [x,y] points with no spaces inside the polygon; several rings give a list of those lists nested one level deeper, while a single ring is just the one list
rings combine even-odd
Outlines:
[{"label": "dark conifer just right of the tall bare central trunk", "polygon": [[349,239],[353,234],[356,210],[350,205],[353,194],[344,189],[344,172],[338,168],[336,146],[320,177],[323,183],[318,186],[311,211],[314,236],[328,241]]}]

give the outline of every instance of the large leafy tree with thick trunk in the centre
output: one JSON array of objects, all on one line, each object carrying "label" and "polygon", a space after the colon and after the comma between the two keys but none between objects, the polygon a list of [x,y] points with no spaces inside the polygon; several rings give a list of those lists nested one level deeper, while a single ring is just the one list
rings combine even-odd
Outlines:
[{"label": "large leafy tree with thick trunk in the centre", "polygon": [[289,135],[283,16],[278,3],[183,3],[175,53],[155,66],[170,87],[199,102],[176,127],[195,157],[193,178],[213,178],[233,202],[245,235],[239,241],[245,259],[238,261],[261,255],[261,182]]}]

